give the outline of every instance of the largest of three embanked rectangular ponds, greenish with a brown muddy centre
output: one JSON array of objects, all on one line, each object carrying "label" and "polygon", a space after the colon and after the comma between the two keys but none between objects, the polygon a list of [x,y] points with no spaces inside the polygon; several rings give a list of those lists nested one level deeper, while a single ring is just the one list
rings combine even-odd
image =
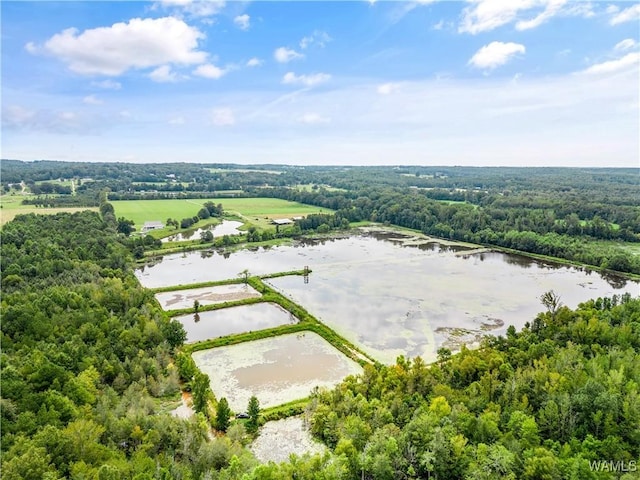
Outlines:
[{"label": "largest of three embanked rectangular ponds, greenish with a brown muddy centre", "polygon": [[353,360],[313,332],[282,335],[193,353],[209,375],[216,398],[234,412],[255,395],[262,408],[303,398],[315,387],[332,387],[362,372]]}]

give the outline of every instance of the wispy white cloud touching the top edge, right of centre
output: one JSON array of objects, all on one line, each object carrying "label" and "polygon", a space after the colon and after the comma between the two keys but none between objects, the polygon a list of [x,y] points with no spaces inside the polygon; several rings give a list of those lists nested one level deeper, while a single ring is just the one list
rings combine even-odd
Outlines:
[{"label": "wispy white cloud touching the top edge, right of centre", "polygon": [[511,22],[516,22],[517,30],[528,30],[556,15],[591,17],[594,14],[589,3],[570,0],[471,0],[471,5],[462,11],[458,31],[475,35]]}]

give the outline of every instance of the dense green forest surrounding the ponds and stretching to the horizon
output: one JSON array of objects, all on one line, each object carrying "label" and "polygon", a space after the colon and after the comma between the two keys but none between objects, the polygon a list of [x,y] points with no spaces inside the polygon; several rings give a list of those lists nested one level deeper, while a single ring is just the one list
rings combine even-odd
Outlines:
[{"label": "dense green forest surrounding the ponds and stretching to the horizon", "polygon": [[[30,213],[2,227],[2,478],[638,479],[640,298],[629,295],[571,310],[549,293],[521,332],[477,350],[366,365],[311,394],[304,418],[325,454],[260,464],[243,423],[215,430],[208,379],[184,375],[183,327],[133,275],[145,240],[122,231],[108,202],[271,196],[335,211],[298,221],[299,233],[376,221],[640,273],[640,258],[616,247],[640,241],[637,174],[3,160],[5,192],[31,185],[41,202],[99,212]],[[168,413],[183,389],[201,403],[190,419]]]}]

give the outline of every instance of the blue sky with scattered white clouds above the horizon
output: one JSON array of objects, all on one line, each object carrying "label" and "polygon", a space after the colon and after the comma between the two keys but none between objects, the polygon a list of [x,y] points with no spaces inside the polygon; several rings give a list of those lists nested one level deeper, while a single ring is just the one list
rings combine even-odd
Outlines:
[{"label": "blue sky with scattered white clouds above the horizon", "polygon": [[638,2],[0,8],[2,158],[640,164]]}]

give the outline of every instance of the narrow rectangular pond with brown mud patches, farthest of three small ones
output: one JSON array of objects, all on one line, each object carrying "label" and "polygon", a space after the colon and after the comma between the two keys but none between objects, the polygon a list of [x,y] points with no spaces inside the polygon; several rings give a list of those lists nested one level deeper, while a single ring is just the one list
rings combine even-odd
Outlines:
[{"label": "narrow rectangular pond with brown mud patches, farthest of three small ones", "polygon": [[200,305],[213,305],[233,300],[259,297],[260,293],[249,285],[238,283],[162,292],[156,293],[155,296],[164,310],[177,310],[179,308],[193,307],[193,302],[196,300],[200,302]]}]

